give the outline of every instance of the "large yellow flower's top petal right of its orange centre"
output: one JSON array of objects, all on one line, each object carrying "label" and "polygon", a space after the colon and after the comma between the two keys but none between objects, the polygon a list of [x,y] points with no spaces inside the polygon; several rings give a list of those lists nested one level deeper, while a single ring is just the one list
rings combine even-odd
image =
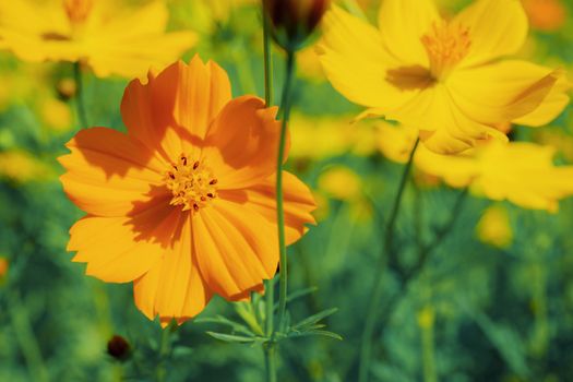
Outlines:
[{"label": "large yellow flower's top petal right of its orange centre", "polygon": [[520,0],[478,0],[453,22],[469,28],[471,47],[459,63],[465,67],[513,55],[527,36],[527,15]]}]

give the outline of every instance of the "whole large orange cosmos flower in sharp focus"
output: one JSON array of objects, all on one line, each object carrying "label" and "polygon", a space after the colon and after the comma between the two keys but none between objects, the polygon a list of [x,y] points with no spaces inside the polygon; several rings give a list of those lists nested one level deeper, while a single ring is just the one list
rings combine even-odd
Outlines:
[{"label": "whole large orange cosmos flower in sharp focus", "polygon": [[[105,282],[133,280],[138,308],[164,325],[213,294],[262,290],[278,264],[276,108],[231,99],[226,72],[195,57],[132,81],[121,114],[127,134],[83,130],[59,158],[65,192],[87,213],[70,230],[73,261]],[[294,175],[284,181],[291,243],[314,223],[314,201]]]}]

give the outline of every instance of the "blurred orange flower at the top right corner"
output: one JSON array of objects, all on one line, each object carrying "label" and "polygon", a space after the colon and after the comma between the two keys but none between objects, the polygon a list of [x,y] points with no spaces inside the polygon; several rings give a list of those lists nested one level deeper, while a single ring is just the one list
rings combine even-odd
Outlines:
[{"label": "blurred orange flower at the top right corner", "polygon": [[566,9],[560,0],[522,0],[522,2],[535,29],[552,32],[565,23]]}]

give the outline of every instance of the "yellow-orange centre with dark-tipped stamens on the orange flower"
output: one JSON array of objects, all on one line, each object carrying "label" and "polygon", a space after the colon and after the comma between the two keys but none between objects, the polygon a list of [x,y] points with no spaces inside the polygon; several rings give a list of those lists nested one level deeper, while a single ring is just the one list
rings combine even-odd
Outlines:
[{"label": "yellow-orange centre with dark-tipped stamens on the orange flower", "polygon": [[181,154],[179,162],[165,172],[165,186],[174,195],[170,205],[182,205],[183,211],[198,212],[217,198],[217,179],[203,162],[191,162]]}]

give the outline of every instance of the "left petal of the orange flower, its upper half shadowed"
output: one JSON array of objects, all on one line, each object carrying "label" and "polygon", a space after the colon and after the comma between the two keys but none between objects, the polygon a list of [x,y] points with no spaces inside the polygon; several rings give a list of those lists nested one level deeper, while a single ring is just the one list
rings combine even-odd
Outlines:
[{"label": "left petal of the orange flower, its upper half shadowed", "polygon": [[139,142],[106,128],[80,131],[67,144],[71,154],[59,157],[68,170],[61,182],[83,211],[98,216],[124,216],[138,202],[165,192],[165,165]]}]

